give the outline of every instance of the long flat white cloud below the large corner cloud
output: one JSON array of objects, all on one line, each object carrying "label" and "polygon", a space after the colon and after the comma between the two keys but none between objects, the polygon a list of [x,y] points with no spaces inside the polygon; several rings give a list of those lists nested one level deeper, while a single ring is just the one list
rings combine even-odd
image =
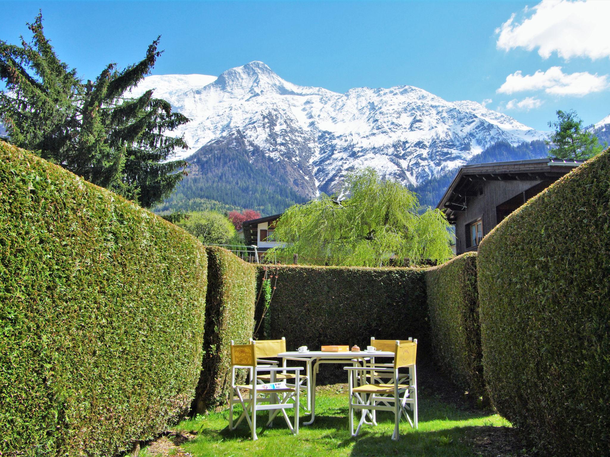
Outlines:
[{"label": "long flat white cloud below the large corner cloud", "polygon": [[538,70],[534,74],[523,76],[521,71],[509,74],[506,81],[496,91],[501,94],[514,94],[526,90],[543,90],[553,95],[583,96],[600,92],[608,88],[608,75],[598,76],[586,71],[567,74],[561,66],[551,66],[547,71]]}]

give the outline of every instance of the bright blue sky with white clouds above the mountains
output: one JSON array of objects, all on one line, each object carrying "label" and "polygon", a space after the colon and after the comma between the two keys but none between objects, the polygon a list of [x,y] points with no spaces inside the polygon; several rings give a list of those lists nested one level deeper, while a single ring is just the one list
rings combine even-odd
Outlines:
[{"label": "bright blue sky with white clouds above the mountains", "polygon": [[610,114],[610,40],[595,25],[608,5],[0,1],[0,39],[29,38],[25,23],[42,9],[47,37],[85,79],[108,62],[136,62],[162,35],[154,74],[217,75],[261,60],[301,85],[414,85],[450,101],[487,101],[547,130],[558,109],[575,109],[586,124]]}]

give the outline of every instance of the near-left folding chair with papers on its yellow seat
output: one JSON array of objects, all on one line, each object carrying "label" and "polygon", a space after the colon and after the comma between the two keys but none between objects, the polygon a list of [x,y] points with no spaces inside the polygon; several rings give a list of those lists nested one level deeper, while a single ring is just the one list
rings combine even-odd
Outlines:
[{"label": "near-left folding chair with papers on its yellow seat", "polygon": [[[249,372],[250,384],[235,384],[235,371],[245,369]],[[278,372],[278,371],[293,371],[295,372],[295,383],[298,386],[300,382],[300,372],[303,367],[276,367],[257,366],[256,353],[254,344],[234,344],[231,341],[231,388],[232,392],[229,397],[229,430],[235,430],[237,426],[246,419],[250,430],[252,431],[253,441],[258,439],[256,436],[256,411],[269,411],[269,419],[267,425],[270,424],[274,417],[282,411],[282,415],[293,434],[299,433],[299,392],[300,389],[292,386],[287,386],[285,381],[271,384],[259,384],[259,372]],[[247,395],[243,395],[245,391]],[[289,403],[289,400],[294,400],[294,403]],[[233,425],[233,408],[239,403],[242,405],[243,412],[237,423]],[[296,406],[295,406],[296,405]],[[294,426],[290,423],[287,408],[295,409]]]}]

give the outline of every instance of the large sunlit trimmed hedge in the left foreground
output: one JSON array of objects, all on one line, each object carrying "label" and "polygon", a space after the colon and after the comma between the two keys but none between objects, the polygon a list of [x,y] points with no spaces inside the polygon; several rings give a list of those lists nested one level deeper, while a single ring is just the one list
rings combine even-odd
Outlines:
[{"label": "large sunlit trimmed hedge in the left foreground", "polygon": [[183,230],[0,141],[0,453],[114,455],[184,413],[206,264]]}]

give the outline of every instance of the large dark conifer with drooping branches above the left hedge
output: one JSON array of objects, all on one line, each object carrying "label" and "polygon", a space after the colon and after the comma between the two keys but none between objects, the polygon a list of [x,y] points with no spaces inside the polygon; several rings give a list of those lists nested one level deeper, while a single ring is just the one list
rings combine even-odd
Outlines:
[{"label": "large dark conifer with drooping branches above the left hedge", "polygon": [[150,90],[129,97],[160,56],[159,37],[141,62],[123,70],[110,63],[95,82],[83,83],[57,57],[41,14],[28,28],[31,43],[23,37],[21,46],[0,41],[0,79],[6,84],[0,116],[10,141],[143,207],[169,196],[188,164],[168,159],[187,144],[165,132],[188,119]]}]

